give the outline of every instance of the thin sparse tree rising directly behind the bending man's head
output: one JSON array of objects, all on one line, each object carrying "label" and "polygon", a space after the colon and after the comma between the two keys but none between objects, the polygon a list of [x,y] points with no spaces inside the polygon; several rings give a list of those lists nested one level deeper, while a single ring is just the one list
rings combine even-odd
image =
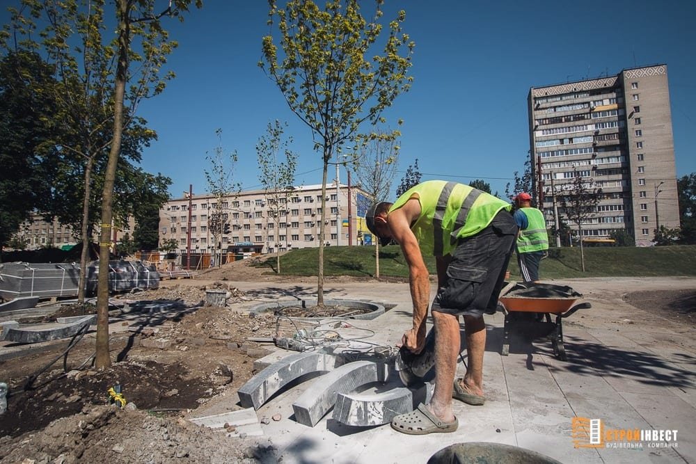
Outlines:
[{"label": "thin sparse tree rising directly behind the bending man's head", "polygon": [[[358,153],[354,168],[358,184],[372,202],[388,200],[392,182],[396,175],[400,146],[393,131],[377,131],[359,138]],[[366,211],[370,205],[357,205]],[[379,279],[379,240],[374,241],[374,276]]]}]

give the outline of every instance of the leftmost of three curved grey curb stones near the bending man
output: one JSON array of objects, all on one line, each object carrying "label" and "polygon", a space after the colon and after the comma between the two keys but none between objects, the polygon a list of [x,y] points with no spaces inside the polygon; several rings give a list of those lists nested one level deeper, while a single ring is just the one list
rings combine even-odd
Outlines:
[{"label": "leftmost of three curved grey curb stones near the bending man", "polygon": [[263,369],[237,390],[243,408],[257,410],[276,392],[305,374],[328,372],[341,360],[326,353],[297,353]]}]

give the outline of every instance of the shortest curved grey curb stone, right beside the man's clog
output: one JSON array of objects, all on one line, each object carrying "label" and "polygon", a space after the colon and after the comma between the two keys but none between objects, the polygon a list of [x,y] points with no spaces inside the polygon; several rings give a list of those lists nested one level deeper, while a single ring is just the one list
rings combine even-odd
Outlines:
[{"label": "shortest curved grey curb stone, right beside the man's clog", "polygon": [[412,410],[413,394],[406,387],[377,394],[339,393],[333,406],[333,419],[352,426],[382,425]]}]

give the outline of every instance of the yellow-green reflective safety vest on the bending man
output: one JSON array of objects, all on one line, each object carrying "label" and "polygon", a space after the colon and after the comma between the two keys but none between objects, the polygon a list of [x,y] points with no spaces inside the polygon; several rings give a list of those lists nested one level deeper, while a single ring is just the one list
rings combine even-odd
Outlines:
[{"label": "yellow-green reflective safety vest on the bending man", "polygon": [[404,192],[389,211],[404,206],[414,195],[420,202],[420,216],[411,230],[423,255],[449,255],[458,239],[481,232],[498,211],[512,206],[468,185],[429,180]]}]

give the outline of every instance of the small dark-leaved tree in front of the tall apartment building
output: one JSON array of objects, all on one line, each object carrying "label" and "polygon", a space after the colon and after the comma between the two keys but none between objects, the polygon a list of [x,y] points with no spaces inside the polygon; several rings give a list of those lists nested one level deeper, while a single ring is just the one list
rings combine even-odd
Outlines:
[{"label": "small dark-leaved tree in front of the tall apartment building", "polygon": [[575,171],[573,182],[562,186],[560,197],[562,214],[565,214],[568,221],[578,226],[580,262],[583,266],[583,272],[585,272],[583,223],[586,223],[596,215],[601,194],[602,189],[594,187],[592,179],[584,179],[577,171]]}]

